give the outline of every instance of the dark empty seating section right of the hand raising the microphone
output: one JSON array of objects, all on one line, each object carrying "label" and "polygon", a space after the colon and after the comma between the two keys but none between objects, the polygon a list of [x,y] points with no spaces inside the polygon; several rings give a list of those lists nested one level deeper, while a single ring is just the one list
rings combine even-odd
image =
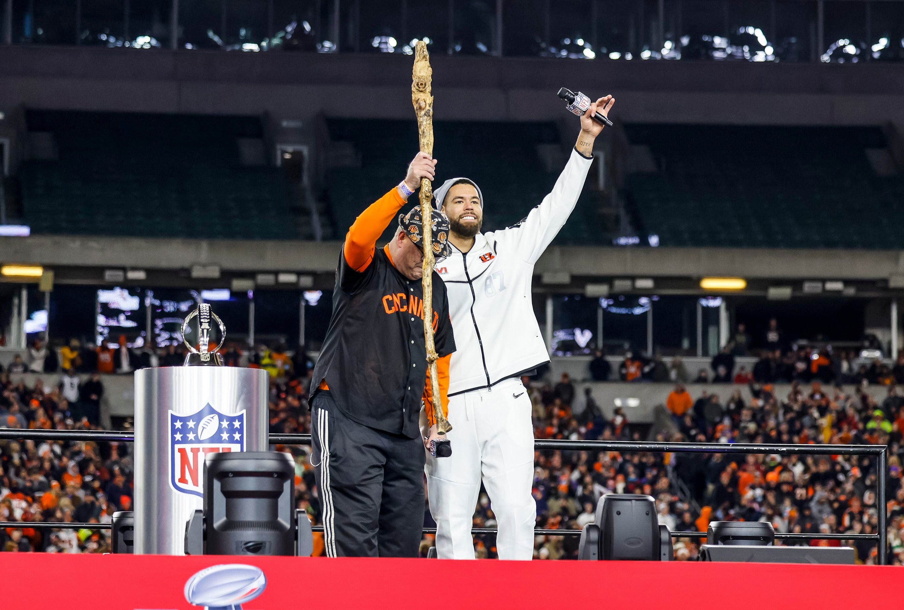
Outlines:
[{"label": "dark empty seating section right of the hand raising the microphone", "polygon": [[662,246],[899,249],[904,180],[866,149],[879,127],[628,125],[655,174],[627,181],[639,229]]}]

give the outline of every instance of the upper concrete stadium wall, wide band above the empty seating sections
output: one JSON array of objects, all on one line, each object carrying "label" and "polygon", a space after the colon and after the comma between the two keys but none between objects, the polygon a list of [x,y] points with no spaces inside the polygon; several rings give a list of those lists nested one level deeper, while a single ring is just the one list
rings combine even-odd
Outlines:
[{"label": "upper concrete stadium wall, wide band above the empty seating sections", "polygon": [[[904,124],[904,66],[895,64],[431,62],[438,119],[559,119],[555,92],[565,85],[615,94],[624,121]],[[0,109],[411,118],[410,80],[404,55],[0,47]]]}]

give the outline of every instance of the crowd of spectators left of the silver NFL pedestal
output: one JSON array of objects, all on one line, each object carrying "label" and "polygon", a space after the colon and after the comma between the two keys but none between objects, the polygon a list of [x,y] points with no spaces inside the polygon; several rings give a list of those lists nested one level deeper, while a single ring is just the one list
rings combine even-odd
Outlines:
[{"label": "crowd of spectators left of the silver NFL pedestal", "polygon": [[[27,387],[0,374],[0,427],[97,427],[92,418],[103,395],[99,376],[83,383],[67,377],[57,387],[42,380]],[[0,521],[24,522],[0,530],[0,550],[108,552],[108,535],[99,530],[46,530],[28,522],[108,523],[113,512],[131,510],[132,467],[129,447],[119,443],[0,440]]]}]

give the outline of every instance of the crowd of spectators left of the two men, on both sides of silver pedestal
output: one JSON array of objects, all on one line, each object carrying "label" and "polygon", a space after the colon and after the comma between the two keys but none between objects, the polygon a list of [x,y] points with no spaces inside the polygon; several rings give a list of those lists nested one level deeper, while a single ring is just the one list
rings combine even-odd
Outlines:
[{"label": "crowd of spectators left of the two men, on both sides of silver pedestal", "polygon": [[[128,348],[125,341],[121,345],[123,353],[117,356],[113,351],[108,361],[114,366],[105,370],[99,366],[105,361],[104,350],[83,348],[75,340],[56,350],[40,341],[32,343],[25,358],[16,354],[5,371],[0,368],[0,427],[99,429],[104,395],[99,370],[117,372],[123,362],[137,369],[184,361],[184,352],[175,346],[151,352]],[[227,365],[270,372],[274,432],[310,431],[305,381],[310,366],[304,354],[303,350],[290,354],[284,345],[272,349],[260,345],[250,352],[230,345],[222,353]],[[296,370],[300,375],[294,374]],[[25,372],[58,376],[52,383],[44,375],[26,384]],[[314,479],[306,448],[281,449],[297,456],[299,505],[311,506],[308,490]],[[108,530],[31,528],[28,522],[109,523],[115,511],[132,508],[133,468],[127,443],[0,440],[0,521],[23,521],[22,528],[0,529],[0,551],[109,552]],[[319,510],[312,510],[312,516],[318,518]]]}]

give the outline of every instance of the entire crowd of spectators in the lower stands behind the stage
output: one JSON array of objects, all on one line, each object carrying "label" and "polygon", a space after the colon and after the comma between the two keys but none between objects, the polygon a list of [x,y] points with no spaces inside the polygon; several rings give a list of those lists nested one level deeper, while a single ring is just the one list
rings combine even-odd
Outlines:
[{"label": "entire crowd of spectators in the lower stands behind the stage", "polygon": [[[238,352],[234,346],[231,351]],[[229,354],[230,350],[226,352]],[[224,354],[224,355],[226,355]],[[165,354],[166,355],[166,354]],[[310,432],[307,408],[310,361],[277,347],[227,358],[231,363],[275,367],[270,386],[272,432]],[[655,362],[655,361],[654,361]],[[90,418],[73,408],[65,383],[32,388],[0,377],[0,424],[5,427],[88,428]],[[592,521],[605,493],[654,496],[660,523],[671,530],[703,530],[709,521],[769,521],[779,532],[871,533],[878,511],[889,515],[890,558],[904,562],[904,486],[901,485],[904,398],[895,386],[881,402],[861,386],[793,380],[786,396],[770,382],[749,381],[750,399],[739,386],[726,400],[704,391],[691,397],[678,383],[652,428],[632,424],[621,408],[602,408],[589,389],[577,392],[567,374],[555,384],[525,378],[532,398],[537,438],[645,439],[721,443],[887,444],[889,478],[885,498],[876,497],[873,458],[831,455],[702,455],[618,452],[537,452],[533,495],[537,527],[579,530]],[[86,391],[79,386],[80,395]],[[99,389],[102,394],[102,388]],[[79,401],[80,402],[80,401]],[[296,462],[297,507],[320,522],[308,446],[278,446]],[[97,530],[40,530],[27,521],[107,522],[128,510],[132,497],[131,447],[116,443],[0,441],[0,521],[24,521],[21,529],[0,530],[0,549],[104,552],[107,534]],[[425,507],[425,525],[432,525]],[[494,528],[492,504],[482,491],[474,526]],[[701,540],[675,540],[675,557],[696,558]],[[838,540],[787,542],[839,545]],[[426,535],[422,554],[432,537]],[[875,563],[871,540],[852,540],[857,560]],[[573,536],[538,536],[535,558],[576,558]],[[315,536],[315,554],[323,540]],[[478,558],[495,556],[494,536],[476,536]]]}]

